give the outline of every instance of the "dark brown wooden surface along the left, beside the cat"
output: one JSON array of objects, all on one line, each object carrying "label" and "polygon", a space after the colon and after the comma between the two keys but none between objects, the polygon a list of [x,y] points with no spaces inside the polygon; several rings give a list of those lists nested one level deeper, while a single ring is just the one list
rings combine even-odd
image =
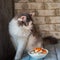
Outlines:
[{"label": "dark brown wooden surface along the left, beside the cat", "polygon": [[13,60],[15,49],[8,33],[8,23],[14,16],[14,1],[0,0],[0,60]]}]

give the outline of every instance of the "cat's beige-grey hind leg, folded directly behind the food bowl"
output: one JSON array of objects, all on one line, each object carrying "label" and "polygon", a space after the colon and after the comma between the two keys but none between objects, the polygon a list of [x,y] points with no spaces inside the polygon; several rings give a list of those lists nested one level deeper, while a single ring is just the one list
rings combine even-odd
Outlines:
[{"label": "cat's beige-grey hind leg, folded directly behind the food bowl", "polygon": [[43,47],[43,40],[41,37],[36,38],[35,36],[30,35],[26,49],[30,51],[36,47]]}]

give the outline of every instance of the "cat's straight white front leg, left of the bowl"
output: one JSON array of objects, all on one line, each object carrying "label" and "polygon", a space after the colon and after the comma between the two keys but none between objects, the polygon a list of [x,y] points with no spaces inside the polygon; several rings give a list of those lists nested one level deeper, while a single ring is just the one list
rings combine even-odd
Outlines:
[{"label": "cat's straight white front leg, left of the bowl", "polygon": [[27,42],[27,40],[18,41],[18,47],[16,50],[16,55],[15,55],[14,60],[20,60],[21,59],[22,53],[23,53],[25,46],[26,46],[26,42]]}]

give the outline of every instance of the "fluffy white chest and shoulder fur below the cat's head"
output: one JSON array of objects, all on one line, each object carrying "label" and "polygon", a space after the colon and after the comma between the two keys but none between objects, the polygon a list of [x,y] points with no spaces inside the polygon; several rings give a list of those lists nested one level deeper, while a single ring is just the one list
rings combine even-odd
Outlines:
[{"label": "fluffy white chest and shoulder fur below the cat's head", "polygon": [[11,35],[16,35],[20,37],[28,37],[31,32],[30,30],[25,29],[23,26],[18,26],[18,21],[14,19],[9,23],[9,28],[9,32]]}]

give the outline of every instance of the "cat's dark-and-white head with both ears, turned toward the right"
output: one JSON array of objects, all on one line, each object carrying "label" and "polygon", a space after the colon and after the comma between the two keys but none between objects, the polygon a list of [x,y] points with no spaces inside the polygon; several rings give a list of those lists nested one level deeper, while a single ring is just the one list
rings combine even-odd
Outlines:
[{"label": "cat's dark-and-white head with both ears, turned toward the right", "polygon": [[18,25],[24,27],[25,29],[31,30],[33,28],[32,16],[34,13],[22,13],[18,16]]}]

